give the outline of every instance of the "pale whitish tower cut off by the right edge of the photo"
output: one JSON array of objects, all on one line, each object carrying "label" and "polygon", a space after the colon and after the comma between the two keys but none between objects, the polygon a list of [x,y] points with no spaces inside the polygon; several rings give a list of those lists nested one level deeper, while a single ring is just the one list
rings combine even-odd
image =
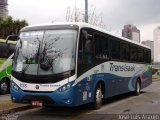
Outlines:
[{"label": "pale whitish tower cut off by the right edge of the photo", "polygon": [[154,29],[154,63],[160,63],[160,26]]}]

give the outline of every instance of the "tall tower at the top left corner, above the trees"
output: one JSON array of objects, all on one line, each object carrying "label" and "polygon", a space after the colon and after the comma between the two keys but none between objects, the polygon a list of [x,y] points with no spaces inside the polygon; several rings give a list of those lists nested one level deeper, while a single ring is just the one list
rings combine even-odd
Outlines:
[{"label": "tall tower at the top left corner, above the trees", "polygon": [[8,16],[8,0],[0,0],[0,17],[6,18]]}]

